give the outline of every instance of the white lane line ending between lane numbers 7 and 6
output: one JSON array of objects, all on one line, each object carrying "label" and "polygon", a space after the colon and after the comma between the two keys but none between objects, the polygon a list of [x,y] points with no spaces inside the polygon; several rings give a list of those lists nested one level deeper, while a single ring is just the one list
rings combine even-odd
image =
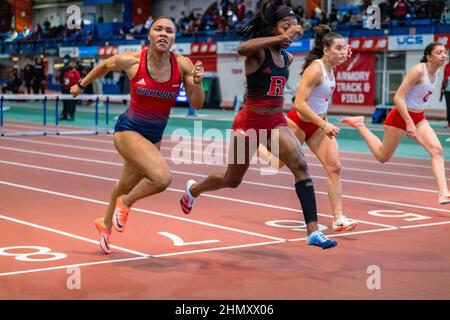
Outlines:
[{"label": "white lane line ending between lane numbers 7 and 6", "polygon": [[[51,190],[47,190],[47,189],[36,188],[36,187],[28,186],[28,185],[12,183],[12,182],[3,181],[3,180],[0,180],[0,184],[7,185],[7,186],[10,186],[10,187],[20,188],[20,189],[26,189],[26,190],[37,191],[37,192],[41,192],[41,193],[52,194],[52,195],[55,195],[55,196],[60,196],[60,197],[65,197],[65,198],[71,198],[71,199],[75,199],[75,200],[81,200],[81,201],[86,201],[86,202],[91,202],[91,203],[96,203],[96,204],[109,205],[109,203],[105,202],[105,201],[100,201],[100,200],[95,200],[95,199],[90,199],[90,198],[85,198],[85,197],[79,197],[79,196],[75,196],[75,195],[68,194],[68,193],[51,191]],[[214,227],[214,228],[218,228],[218,229],[222,229],[222,230],[243,233],[243,234],[256,236],[256,237],[261,237],[261,238],[266,238],[266,239],[271,239],[271,240],[284,241],[284,239],[278,238],[278,237],[268,236],[268,235],[265,235],[265,234],[261,234],[261,233],[257,233],[257,232],[251,232],[251,231],[246,231],[246,230],[241,230],[241,229],[237,229],[237,228],[226,227],[226,226],[213,224],[213,223],[208,223],[208,222],[203,222],[203,221],[199,221],[199,220],[181,218],[181,217],[173,216],[173,215],[162,213],[162,212],[158,212],[158,211],[145,210],[145,209],[140,209],[140,208],[133,208],[133,211],[148,213],[148,214],[157,215],[157,216],[160,216],[160,217],[165,217],[165,218],[170,218],[170,219],[175,219],[175,220],[180,220],[180,221],[185,221],[185,222],[190,222],[190,223],[195,223],[195,224],[200,224],[200,225],[204,225],[204,226],[208,226],[208,227]]]}]

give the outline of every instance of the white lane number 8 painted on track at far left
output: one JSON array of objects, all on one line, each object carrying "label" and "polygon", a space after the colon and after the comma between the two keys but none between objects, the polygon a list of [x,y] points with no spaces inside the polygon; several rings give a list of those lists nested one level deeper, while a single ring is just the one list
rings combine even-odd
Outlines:
[{"label": "white lane number 8 painted on track at far left", "polygon": [[[17,250],[21,250],[22,252],[16,252]],[[16,246],[0,248],[0,256],[10,256],[14,257],[14,259],[16,260],[27,262],[54,261],[61,260],[67,257],[67,255],[64,253],[52,252],[52,249],[50,248],[39,246]],[[47,256],[48,258],[33,258],[33,256]]]}]

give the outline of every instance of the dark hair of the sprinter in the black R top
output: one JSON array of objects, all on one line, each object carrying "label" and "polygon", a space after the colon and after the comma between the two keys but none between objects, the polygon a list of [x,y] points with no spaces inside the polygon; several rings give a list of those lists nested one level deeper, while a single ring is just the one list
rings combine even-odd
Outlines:
[{"label": "dark hair of the sprinter in the black R top", "polygon": [[[280,20],[277,17],[286,10],[292,11],[290,0],[262,0],[255,18],[239,30],[237,35],[244,40],[272,36],[272,29]],[[293,11],[291,16],[295,17]]]}]

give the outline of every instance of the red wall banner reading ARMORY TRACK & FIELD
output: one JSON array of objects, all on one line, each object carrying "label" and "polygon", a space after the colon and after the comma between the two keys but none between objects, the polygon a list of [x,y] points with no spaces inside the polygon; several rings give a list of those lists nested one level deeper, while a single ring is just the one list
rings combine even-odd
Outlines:
[{"label": "red wall banner reading ARMORY TRACK & FIELD", "polygon": [[336,67],[333,104],[373,106],[375,94],[375,53],[356,53]]}]

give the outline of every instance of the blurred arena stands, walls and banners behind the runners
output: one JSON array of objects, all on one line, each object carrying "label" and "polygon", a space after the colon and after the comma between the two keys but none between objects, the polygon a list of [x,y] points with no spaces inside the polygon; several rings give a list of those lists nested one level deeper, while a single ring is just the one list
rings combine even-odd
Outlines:
[{"label": "blurred arena stands, walls and banners behind the runners", "polygon": [[[117,52],[139,50],[148,43],[152,17],[169,16],[178,25],[174,50],[200,59],[211,72],[205,80],[211,92],[205,107],[227,108],[245,90],[243,58],[235,48],[236,30],[254,15],[257,0],[2,0],[0,9],[0,84],[6,86],[17,72],[24,87],[24,67],[42,59],[45,92],[60,92],[60,70],[69,55],[81,74]],[[403,2],[403,3],[401,3]],[[337,72],[338,88],[331,111],[371,113],[375,106],[392,105],[403,76],[422,56],[424,46],[441,41],[447,47],[450,12],[446,1],[317,1],[293,0],[292,7],[305,29],[303,39],[289,51],[295,56],[286,90],[286,109],[299,81],[303,57],[312,48],[312,28],[327,23],[352,45],[354,56]],[[406,5],[405,5],[406,3]],[[367,28],[366,9],[378,5],[381,28]],[[80,29],[69,29],[67,8],[81,8]],[[440,83],[443,72],[440,72]],[[214,80],[214,81],[211,81]],[[218,80],[218,81],[217,81]],[[215,86],[218,85],[218,87]],[[94,93],[127,93],[127,79],[118,72],[101,81]],[[37,93],[37,92],[35,92]],[[443,119],[445,99],[430,99],[428,116]]]}]

